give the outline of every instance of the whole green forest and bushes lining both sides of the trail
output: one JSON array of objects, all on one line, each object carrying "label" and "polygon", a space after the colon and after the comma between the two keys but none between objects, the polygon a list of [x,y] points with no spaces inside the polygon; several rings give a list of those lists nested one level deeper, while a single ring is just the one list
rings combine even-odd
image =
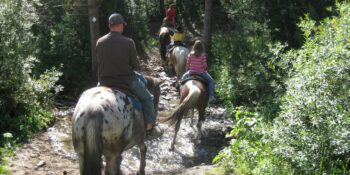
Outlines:
[{"label": "whole green forest and bushes lining both sides of the trail", "polygon": [[[96,84],[89,2],[0,2],[0,173],[16,145],[52,124],[55,100]],[[349,1],[95,2],[100,35],[121,13],[139,55],[158,47],[170,3],[187,36],[203,37],[210,24],[209,72],[235,120],[213,160],[225,173],[349,174]]]}]

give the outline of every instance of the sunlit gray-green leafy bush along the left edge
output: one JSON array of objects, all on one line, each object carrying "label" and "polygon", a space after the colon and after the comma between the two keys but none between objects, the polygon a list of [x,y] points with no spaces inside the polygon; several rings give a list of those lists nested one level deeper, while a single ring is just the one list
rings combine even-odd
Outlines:
[{"label": "sunlit gray-green leafy bush along the left edge", "polygon": [[[25,139],[47,126],[52,97],[61,90],[56,69],[34,76],[36,38],[30,29],[37,22],[27,1],[0,3],[0,133],[11,132],[14,140]],[[0,139],[0,145],[4,143]]]}]

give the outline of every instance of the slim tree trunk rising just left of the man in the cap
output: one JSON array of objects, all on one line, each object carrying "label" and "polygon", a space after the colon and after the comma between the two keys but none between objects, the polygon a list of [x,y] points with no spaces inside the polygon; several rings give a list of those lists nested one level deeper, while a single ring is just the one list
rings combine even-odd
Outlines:
[{"label": "slim tree trunk rising just left of the man in the cap", "polygon": [[88,0],[88,13],[90,23],[90,45],[91,45],[91,58],[92,58],[92,80],[93,83],[97,82],[97,58],[96,58],[96,41],[100,36],[99,28],[99,16],[98,16],[99,0]]}]

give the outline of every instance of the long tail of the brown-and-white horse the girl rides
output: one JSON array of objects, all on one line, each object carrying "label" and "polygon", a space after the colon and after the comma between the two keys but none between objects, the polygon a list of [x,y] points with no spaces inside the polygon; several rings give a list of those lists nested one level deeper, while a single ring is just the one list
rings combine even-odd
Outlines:
[{"label": "long tail of the brown-and-white horse the girl rides", "polygon": [[168,118],[161,119],[161,122],[167,122],[171,120],[170,125],[176,123],[176,121],[180,120],[182,116],[184,116],[187,111],[194,107],[197,103],[200,96],[200,89],[197,86],[191,86],[188,95],[185,99],[180,103],[180,105],[175,109],[172,115]]}]

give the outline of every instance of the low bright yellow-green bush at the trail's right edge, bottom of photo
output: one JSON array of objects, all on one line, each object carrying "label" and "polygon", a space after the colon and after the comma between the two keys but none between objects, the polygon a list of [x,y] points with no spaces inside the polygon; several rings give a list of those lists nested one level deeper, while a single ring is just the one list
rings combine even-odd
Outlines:
[{"label": "low bright yellow-green bush at the trail's right edge, bottom of photo", "polygon": [[265,138],[270,125],[261,115],[236,108],[234,128],[228,134],[231,144],[213,163],[224,167],[225,174],[292,174],[290,166],[273,155],[271,142]]}]

